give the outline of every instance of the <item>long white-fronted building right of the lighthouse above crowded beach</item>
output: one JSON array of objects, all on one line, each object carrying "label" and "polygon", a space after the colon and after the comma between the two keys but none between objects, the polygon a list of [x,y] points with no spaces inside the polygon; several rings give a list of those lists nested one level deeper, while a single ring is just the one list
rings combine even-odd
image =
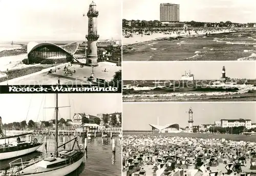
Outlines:
[{"label": "long white-fronted building right of the lighthouse above crowded beach", "polygon": [[245,127],[246,129],[251,129],[251,120],[248,119],[221,119],[221,127]]}]

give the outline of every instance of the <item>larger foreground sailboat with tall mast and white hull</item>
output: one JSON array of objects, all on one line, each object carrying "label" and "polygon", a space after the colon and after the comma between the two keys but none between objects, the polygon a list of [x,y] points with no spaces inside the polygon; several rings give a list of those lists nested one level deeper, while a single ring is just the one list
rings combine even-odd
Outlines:
[{"label": "larger foreground sailboat with tall mast and white hull", "polygon": [[[57,86],[59,86],[59,82]],[[58,93],[56,93],[55,124],[58,124],[58,108]],[[78,144],[77,137],[58,146],[57,134],[58,125],[55,125],[55,152],[53,155],[38,162],[34,161],[33,163],[30,163],[28,165],[24,165],[21,158],[14,160],[9,163],[11,168],[4,175],[64,176],[76,170],[84,161],[84,155],[86,153],[85,147],[84,150],[80,148],[82,144]],[[71,141],[74,141],[72,149],[65,149],[65,145],[67,145],[67,143],[70,143]],[[75,144],[77,144],[78,149],[74,149]],[[62,146],[64,149],[59,150],[59,148]],[[21,162],[17,163],[18,160]],[[22,166],[16,168],[15,165],[17,164]]]}]

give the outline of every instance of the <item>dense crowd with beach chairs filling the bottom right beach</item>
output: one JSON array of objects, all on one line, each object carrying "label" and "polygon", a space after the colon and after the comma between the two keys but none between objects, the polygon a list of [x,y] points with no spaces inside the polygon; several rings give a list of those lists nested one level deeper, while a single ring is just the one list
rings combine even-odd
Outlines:
[{"label": "dense crowd with beach chairs filling the bottom right beach", "polygon": [[211,172],[238,175],[256,170],[255,152],[255,141],[126,135],[123,136],[123,172],[126,175],[199,176]]}]

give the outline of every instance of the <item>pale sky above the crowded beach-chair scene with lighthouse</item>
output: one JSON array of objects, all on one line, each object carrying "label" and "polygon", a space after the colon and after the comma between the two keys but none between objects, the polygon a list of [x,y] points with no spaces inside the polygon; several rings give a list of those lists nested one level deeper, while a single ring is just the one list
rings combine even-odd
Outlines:
[{"label": "pale sky above the crowded beach-chair scene with lighthouse", "polygon": [[148,123],[188,126],[188,111],[193,110],[193,125],[214,124],[221,119],[250,119],[256,122],[256,102],[229,103],[123,103],[123,130],[151,130]]}]

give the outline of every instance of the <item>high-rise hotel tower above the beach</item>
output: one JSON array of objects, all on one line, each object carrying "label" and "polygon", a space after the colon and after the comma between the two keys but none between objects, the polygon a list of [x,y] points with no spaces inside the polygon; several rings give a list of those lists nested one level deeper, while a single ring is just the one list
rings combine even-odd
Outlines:
[{"label": "high-rise hotel tower above the beach", "polygon": [[160,4],[160,21],[161,22],[179,22],[180,5],[171,3]]}]

